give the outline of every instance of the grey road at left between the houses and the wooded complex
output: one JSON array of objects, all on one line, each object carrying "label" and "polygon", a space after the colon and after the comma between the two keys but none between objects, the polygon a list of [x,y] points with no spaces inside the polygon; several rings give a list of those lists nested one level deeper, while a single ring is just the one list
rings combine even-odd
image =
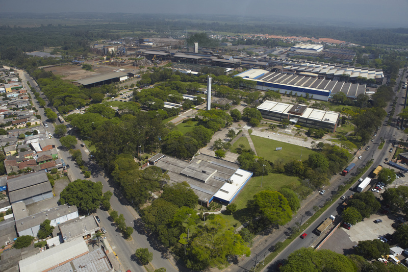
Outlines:
[{"label": "grey road at left between the houses and the wooded complex", "polygon": [[[37,91],[39,91],[36,83],[31,79],[31,77],[27,73],[21,74],[21,79],[23,81],[29,81],[31,86],[34,87]],[[38,106],[33,93],[31,93],[33,97],[33,104],[38,109],[39,114],[41,115],[42,120],[45,120],[44,110]],[[43,97],[43,95],[41,95]],[[43,97],[46,100],[46,97]],[[57,121],[57,125],[60,122]],[[52,123],[48,123],[48,131],[54,133],[54,126]],[[59,140],[54,138],[52,139],[55,141],[56,146],[59,146]],[[92,172],[92,177],[90,180],[93,182],[100,181],[104,185],[103,191],[111,190],[114,194],[111,198],[111,206],[114,210],[118,211],[119,214],[123,214],[126,220],[127,226],[132,226],[135,231],[132,235],[132,241],[126,241],[122,238],[120,232],[116,230],[112,222],[109,220],[109,214],[106,211],[97,210],[97,215],[100,218],[101,226],[105,227],[108,235],[107,239],[112,246],[113,251],[117,254],[119,262],[121,263],[121,267],[115,267],[115,269],[121,269],[122,271],[126,271],[130,269],[131,271],[145,271],[143,266],[140,266],[134,257],[134,253],[138,248],[148,248],[150,252],[153,253],[153,261],[151,265],[154,268],[165,267],[167,271],[177,271],[183,270],[183,267],[177,267],[174,263],[174,259],[168,253],[166,248],[162,248],[160,244],[156,242],[154,237],[150,235],[146,235],[143,232],[143,228],[140,227],[140,219],[133,208],[128,206],[129,204],[123,199],[121,196],[120,191],[117,188],[111,186],[111,183],[107,177],[104,176],[104,172],[101,171],[98,166],[89,160],[89,153],[86,152],[86,149],[80,145],[81,141],[75,146],[76,149],[81,150],[82,157],[84,159],[85,165],[89,167],[89,170]],[[71,160],[71,155],[65,149],[58,149],[60,157],[68,164],[70,164],[70,168],[68,169],[68,175],[71,180],[75,179],[84,179],[84,176],[81,174],[81,170],[75,164],[74,161]],[[169,259],[168,259],[169,258]]]}]

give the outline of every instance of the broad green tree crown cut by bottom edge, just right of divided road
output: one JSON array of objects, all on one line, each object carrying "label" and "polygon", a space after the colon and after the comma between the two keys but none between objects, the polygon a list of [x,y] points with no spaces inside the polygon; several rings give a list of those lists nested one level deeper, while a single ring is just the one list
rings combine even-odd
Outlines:
[{"label": "broad green tree crown cut by bottom edge, just right of divided road", "polygon": [[301,248],[288,256],[287,262],[279,269],[292,271],[355,271],[353,263],[344,255],[330,250]]}]

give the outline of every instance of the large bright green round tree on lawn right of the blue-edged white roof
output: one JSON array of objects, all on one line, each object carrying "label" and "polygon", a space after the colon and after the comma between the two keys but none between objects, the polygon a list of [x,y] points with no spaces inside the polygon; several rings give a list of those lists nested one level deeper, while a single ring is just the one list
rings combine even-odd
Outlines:
[{"label": "large bright green round tree on lawn right of the blue-edged white roof", "polygon": [[253,196],[253,201],[248,203],[253,215],[259,215],[269,221],[271,225],[285,225],[292,219],[292,210],[289,202],[282,193],[264,190]]}]

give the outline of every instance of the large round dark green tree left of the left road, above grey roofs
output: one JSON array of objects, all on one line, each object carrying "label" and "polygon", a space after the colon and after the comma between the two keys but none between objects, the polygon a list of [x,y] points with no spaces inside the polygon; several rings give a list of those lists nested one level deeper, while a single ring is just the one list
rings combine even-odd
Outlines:
[{"label": "large round dark green tree left of the left road, above grey roofs", "polygon": [[75,205],[82,212],[93,212],[99,208],[102,199],[102,183],[89,180],[75,180],[60,194],[61,205]]}]

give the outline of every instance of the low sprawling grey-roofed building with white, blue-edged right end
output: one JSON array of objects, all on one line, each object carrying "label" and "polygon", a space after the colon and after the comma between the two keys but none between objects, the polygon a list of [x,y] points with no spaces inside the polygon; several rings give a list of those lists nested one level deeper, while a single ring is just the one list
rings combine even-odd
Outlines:
[{"label": "low sprawling grey-roofed building with white, blue-edged right end", "polygon": [[200,205],[208,206],[213,200],[231,203],[252,177],[252,172],[239,165],[200,154],[190,162],[158,154],[154,165],[170,177],[170,183],[187,182],[198,196]]}]

